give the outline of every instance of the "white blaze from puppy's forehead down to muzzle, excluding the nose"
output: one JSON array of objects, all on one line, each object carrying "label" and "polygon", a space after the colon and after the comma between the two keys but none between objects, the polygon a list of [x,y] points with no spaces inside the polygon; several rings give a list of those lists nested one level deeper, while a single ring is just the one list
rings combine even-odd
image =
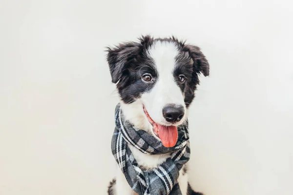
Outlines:
[{"label": "white blaze from puppy's forehead down to muzzle, excluding the nose", "polygon": [[[155,63],[158,78],[151,91],[143,94],[141,100],[156,123],[168,125],[163,117],[163,108],[167,104],[182,105],[186,110],[183,94],[173,75],[178,49],[173,43],[158,41],[148,49],[148,52]],[[183,121],[184,118],[178,124]]]}]

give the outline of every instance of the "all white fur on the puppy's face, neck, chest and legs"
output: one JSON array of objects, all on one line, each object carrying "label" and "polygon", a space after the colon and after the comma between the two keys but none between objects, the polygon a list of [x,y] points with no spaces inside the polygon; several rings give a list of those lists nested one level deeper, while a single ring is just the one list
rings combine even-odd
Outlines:
[{"label": "all white fur on the puppy's face, neck, chest and legs", "polygon": [[[148,122],[143,111],[143,105],[145,105],[150,117],[156,123],[160,123],[162,125],[170,125],[162,114],[163,107],[165,107],[166,104],[173,103],[184,106],[185,116],[175,125],[180,125],[185,121],[187,118],[187,109],[184,103],[183,94],[179,86],[176,84],[172,73],[175,66],[174,58],[177,55],[176,46],[169,42],[158,41],[148,50],[148,53],[150,57],[154,59],[159,78],[151,91],[143,94],[140,99],[130,104],[121,102],[121,109],[123,110],[127,120],[139,129],[144,129],[149,134],[156,137],[152,131],[152,126]],[[128,145],[128,147],[130,148],[138,164],[148,169],[157,167],[159,164],[166,161],[166,159],[170,156],[169,154],[147,155],[140,152],[132,145]],[[183,175],[183,170],[180,171],[178,182],[182,194],[187,195],[188,176],[187,173]],[[118,195],[135,195],[120,169],[118,170],[116,176],[116,185],[114,190]]]}]

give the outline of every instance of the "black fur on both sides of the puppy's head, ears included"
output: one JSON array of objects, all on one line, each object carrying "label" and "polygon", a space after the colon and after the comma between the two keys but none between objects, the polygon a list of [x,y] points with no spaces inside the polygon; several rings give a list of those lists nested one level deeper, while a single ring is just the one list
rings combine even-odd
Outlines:
[{"label": "black fur on both sides of the puppy's head, ears included", "polygon": [[[165,39],[153,39],[150,36],[142,37],[138,42],[125,42],[114,48],[107,48],[107,61],[110,68],[112,82],[117,83],[117,89],[121,99],[125,103],[131,103],[140,98],[144,92],[152,89],[155,78],[160,77],[156,72],[154,61],[148,56],[147,49],[156,41],[168,41],[177,45],[178,56],[173,75],[185,75],[184,83],[178,82],[185,96],[185,104],[188,107],[194,98],[196,85],[199,83],[198,75],[209,75],[209,63],[200,51],[199,47],[185,44],[184,41],[171,37]],[[153,82],[144,82],[141,77],[149,73],[154,78]]]}]

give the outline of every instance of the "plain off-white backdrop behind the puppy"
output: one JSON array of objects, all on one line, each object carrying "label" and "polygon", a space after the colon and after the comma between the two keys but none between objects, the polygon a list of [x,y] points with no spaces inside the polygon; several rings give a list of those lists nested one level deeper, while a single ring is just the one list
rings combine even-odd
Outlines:
[{"label": "plain off-white backdrop behind the puppy", "polygon": [[291,2],[0,0],[0,195],[106,194],[118,98],[104,50],[146,34],[209,59],[190,107],[191,185],[293,195]]}]

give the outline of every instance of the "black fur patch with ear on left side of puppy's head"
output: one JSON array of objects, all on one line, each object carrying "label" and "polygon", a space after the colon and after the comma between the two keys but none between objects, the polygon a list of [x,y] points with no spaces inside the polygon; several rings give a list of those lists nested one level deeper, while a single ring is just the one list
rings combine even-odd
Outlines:
[{"label": "black fur patch with ear on left side of puppy's head", "polygon": [[150,73],[153,78],[158,77],[154,62],[146,54],[151,42],[150,37],[143,37],[138,43],[126,42],[116,48],[108,48],[107,61],[112,82],[119,81],[117,89],[125,103],[140,98],[154,86],[155,82],[146,83],[141,79],[145,73]]}]

